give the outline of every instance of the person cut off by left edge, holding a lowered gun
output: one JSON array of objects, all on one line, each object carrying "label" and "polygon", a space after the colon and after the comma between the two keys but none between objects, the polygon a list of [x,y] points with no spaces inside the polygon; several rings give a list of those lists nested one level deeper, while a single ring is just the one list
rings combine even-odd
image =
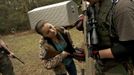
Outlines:
[{"label": "person cut off by left edge, holding a lowered gun", "polygon": [[15,75],[10,57],[13,57],[12,53],[3,40],[0,39],[0,73],[2,75]]}]

